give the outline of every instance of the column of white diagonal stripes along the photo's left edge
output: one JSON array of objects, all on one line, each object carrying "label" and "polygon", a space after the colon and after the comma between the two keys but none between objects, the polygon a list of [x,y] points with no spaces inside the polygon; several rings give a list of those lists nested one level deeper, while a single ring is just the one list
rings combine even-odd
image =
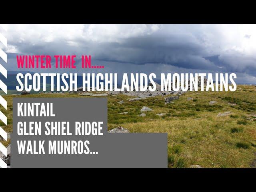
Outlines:
[{"label": "column of white diagonal stripes along the photo's left edge", "polygon": [[[6,24],[0,24],[0,26],[7,31],[7,25]],[[0,33],[0,42],[4,44],[4,46],[7,46],[7,39],[4,37],[3,34]],[[0,57],[7,63],[7,54],[0,49]],[[5,78],[7,78],[7,70],[0,64],[0,72],[4,75]],[[0,80],[0,88],[7,94],[7,86]],[[7,109],[7,102],[4,100],[2,96],[0,96],[0,104],[4,106],[5,109]],[[4,122],[4,124],[7,125],[7,117],[0,111],[0,120]],[[6,132],[0,127],[0,136],[4,138],[4,140],[7,140],[7,134]],[[0,142],[0,152],[2,152],[5,156],[7,156],[7,149],[6,147]],[[0,158],[0,167],[1,168],[7,168],[6,163]]]}]

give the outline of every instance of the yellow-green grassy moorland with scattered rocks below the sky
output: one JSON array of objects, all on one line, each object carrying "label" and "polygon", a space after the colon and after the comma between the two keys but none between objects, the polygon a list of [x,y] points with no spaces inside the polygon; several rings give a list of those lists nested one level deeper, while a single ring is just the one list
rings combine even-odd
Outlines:
[{"label": "yellow-green grassy moorland with scattered rocks below the sky", "polygon": [[[13,97],[90,96],[68,93],[4,96],[8,102],[5,112],[8,126],[2,122],[0,126],[7,132],[12,132]],[[107,97],[108,129],[122,126],[130,132],[168,133],[168,167],[256,167],[255,86],[238,86],[236,92],[187,92],[169,104],[164,104],[162,96],[135,101],[127,100],[131,97],[126,95]],[[124,103],[118,104],[121,100]],[[210,101],[216,103],[209,104]],[[153,111],[144,112],[145,117],[138,116],[143,106]],[[5,111],[2,106],[1,111]],[[159,113],[165,115],[157,116]]]}]

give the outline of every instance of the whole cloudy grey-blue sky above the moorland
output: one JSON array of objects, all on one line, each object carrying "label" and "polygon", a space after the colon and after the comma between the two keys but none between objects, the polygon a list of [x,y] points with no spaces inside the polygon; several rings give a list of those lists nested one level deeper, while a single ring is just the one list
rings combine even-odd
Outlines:
[{"label": "whole cloudy grey-blue sky above the moorland", "polygon": [[256,25],[15,24],[0,32],[8,40],[8,70],[18,70],[17,54],[76,54],[78,65],[84,54],[105,68],[78,67],[80,74],[154,72],[160,78],[162,72],[234,72],[237,83],[256,83]]}]

